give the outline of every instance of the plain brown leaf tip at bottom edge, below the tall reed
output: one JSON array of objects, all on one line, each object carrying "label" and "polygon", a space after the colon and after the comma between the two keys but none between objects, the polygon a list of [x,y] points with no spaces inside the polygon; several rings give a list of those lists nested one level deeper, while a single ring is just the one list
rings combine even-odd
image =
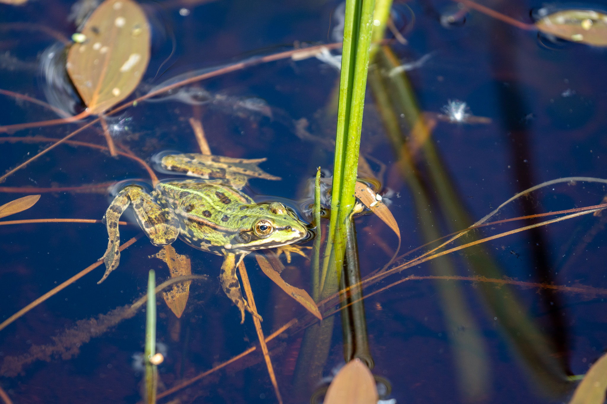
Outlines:
[{"label": "plain brown leaf tip at bottom edge, below the tall reed", "polygon": [[331,382],[326,404],[376,404],[378,389],[367,365],[356,358],[348,362]]}]

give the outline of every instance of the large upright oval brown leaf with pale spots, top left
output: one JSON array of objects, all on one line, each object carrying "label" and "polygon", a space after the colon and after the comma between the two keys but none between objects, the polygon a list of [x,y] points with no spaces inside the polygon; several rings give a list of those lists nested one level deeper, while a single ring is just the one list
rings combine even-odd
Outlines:
[{"label": "large upright oval brown leaf with pale spots, top left", "polygon": [[90,15],[67,54],[67,73],[89,114],[127,98],[150,58],[150,30],[132,0],[106,0]]}]

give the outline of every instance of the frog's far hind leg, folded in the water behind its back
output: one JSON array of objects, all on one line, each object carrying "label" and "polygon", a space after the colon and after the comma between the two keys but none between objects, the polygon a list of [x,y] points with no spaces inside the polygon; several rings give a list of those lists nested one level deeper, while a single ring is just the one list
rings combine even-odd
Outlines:
[{"label": "frog's far hind leg, folded in the water behind its back", "polygon": [[257,164],[266,159],[235,159],[225,156],[209,156],[199,153],[167,154],[161,157],[164,170],[185,173],[187,176],[203,179],[217,178],[229,180],[232,187],[240,190],[249,178],[280,180],[280,177],[266,173]]}]

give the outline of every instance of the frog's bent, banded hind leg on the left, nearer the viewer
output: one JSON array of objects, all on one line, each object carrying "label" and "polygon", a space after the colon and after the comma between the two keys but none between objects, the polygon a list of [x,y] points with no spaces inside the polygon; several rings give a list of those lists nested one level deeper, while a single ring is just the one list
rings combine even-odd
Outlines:
[{"label": "frog's bent, banded hind leg on the left, nearer the viewer", "polygon": [[125,187],[112,200],[105,216],[103,216],[109,241],[106,253],[102,257],[106,264],[106,272],[97,283],[103,282],[118,267],[118,263],[120,263],[118,219],[120,219],[121,214],[131,203],[133,204],[135,216],[141,229],[149,237],[152,244],[161,246],[171,244],[177,240],[179,225],[173,211],[158,205],[154,197],[144,191],[143,188],[136,185]]}]

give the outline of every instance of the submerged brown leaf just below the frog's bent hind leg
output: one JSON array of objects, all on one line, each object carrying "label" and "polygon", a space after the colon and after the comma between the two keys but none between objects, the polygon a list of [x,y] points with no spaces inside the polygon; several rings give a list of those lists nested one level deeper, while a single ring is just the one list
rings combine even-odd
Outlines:
[{"label": "submerged brown leaf just below the frog's bent hind leg", "polygon": [[[172,245],[165,245],[162,250],[158,251],[154,257],[166,262],[169,266],[169,272],[171,277],[185,276],[192,274],[192,264],[187,256],[177,254],[175,248]],[[186,308],[189,297],[189,285],[192,281],[188,280],[182,283],[175,283],[172,289],[168,292],[163,292],[164,302],[169,306],[171,311],[177,316],[181,317],[183,310]]]}]

